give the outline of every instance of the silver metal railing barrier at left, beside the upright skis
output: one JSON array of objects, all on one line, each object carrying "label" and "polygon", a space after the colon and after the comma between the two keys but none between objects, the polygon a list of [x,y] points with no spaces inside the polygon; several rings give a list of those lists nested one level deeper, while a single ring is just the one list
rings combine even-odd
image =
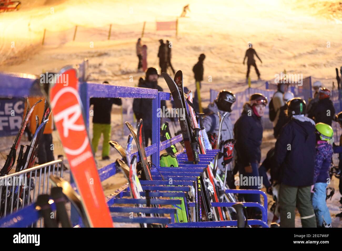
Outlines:
[{"label": "silver metal railing barrier at left, beside the upright skis", "polygon": [[49,193],[52,186],[49,175],[63,177],[63,169],[63,160],[58,159],[0,177],[0,217],[34,203],[40,194]]}]

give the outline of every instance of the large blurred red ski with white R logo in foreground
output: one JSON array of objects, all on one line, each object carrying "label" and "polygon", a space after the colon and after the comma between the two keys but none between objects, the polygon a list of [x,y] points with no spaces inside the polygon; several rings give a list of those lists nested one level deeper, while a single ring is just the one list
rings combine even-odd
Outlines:
[{"label": "large blurred red ski with white R logo in foreground", "polygon": [[84,125],[76,70],[66,67],[59,74],[50,92],[51,107],[78,192],[90,226],[113,227]]}]

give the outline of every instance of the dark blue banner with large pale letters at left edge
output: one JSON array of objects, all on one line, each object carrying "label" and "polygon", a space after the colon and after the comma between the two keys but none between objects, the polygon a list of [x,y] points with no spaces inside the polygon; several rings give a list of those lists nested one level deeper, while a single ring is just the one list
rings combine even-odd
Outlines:
[{"label": "dark blue banner with large pale letters at left edge", "polygon": [[25,99],[0,98],[0,137],[18,133],[24,112]]}]

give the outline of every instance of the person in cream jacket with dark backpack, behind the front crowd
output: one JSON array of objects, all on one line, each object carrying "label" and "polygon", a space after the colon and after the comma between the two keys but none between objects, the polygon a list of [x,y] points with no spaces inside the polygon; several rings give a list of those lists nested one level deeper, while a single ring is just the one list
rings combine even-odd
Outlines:
[{"label": "person in cream jacket with dark backpack, behind the front crowd", "polygon": [[288,89],[288,84],[283,83],[282,80],[277,85],[277,91],[273,94],[271,102],[269,102],[269,120],[273,122],[273,128],[277,125],[280,107],[284,106],[284,93]]}]

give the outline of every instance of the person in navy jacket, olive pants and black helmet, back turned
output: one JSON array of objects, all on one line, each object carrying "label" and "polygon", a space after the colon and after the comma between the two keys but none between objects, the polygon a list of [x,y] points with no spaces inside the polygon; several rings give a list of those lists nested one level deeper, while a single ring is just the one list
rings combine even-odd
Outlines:
[{"label": "person in navy jacket, olive pants and black helmet, back turned", "polygon": [[316,227],[311,204],[311,185],[315,166],[315,122],[305,117],[306,103],[301,98],[288,102],[290,121],[276,142],[276,164],[280,182],[280,227],[295,227],[295,208],[303,227]]}]

